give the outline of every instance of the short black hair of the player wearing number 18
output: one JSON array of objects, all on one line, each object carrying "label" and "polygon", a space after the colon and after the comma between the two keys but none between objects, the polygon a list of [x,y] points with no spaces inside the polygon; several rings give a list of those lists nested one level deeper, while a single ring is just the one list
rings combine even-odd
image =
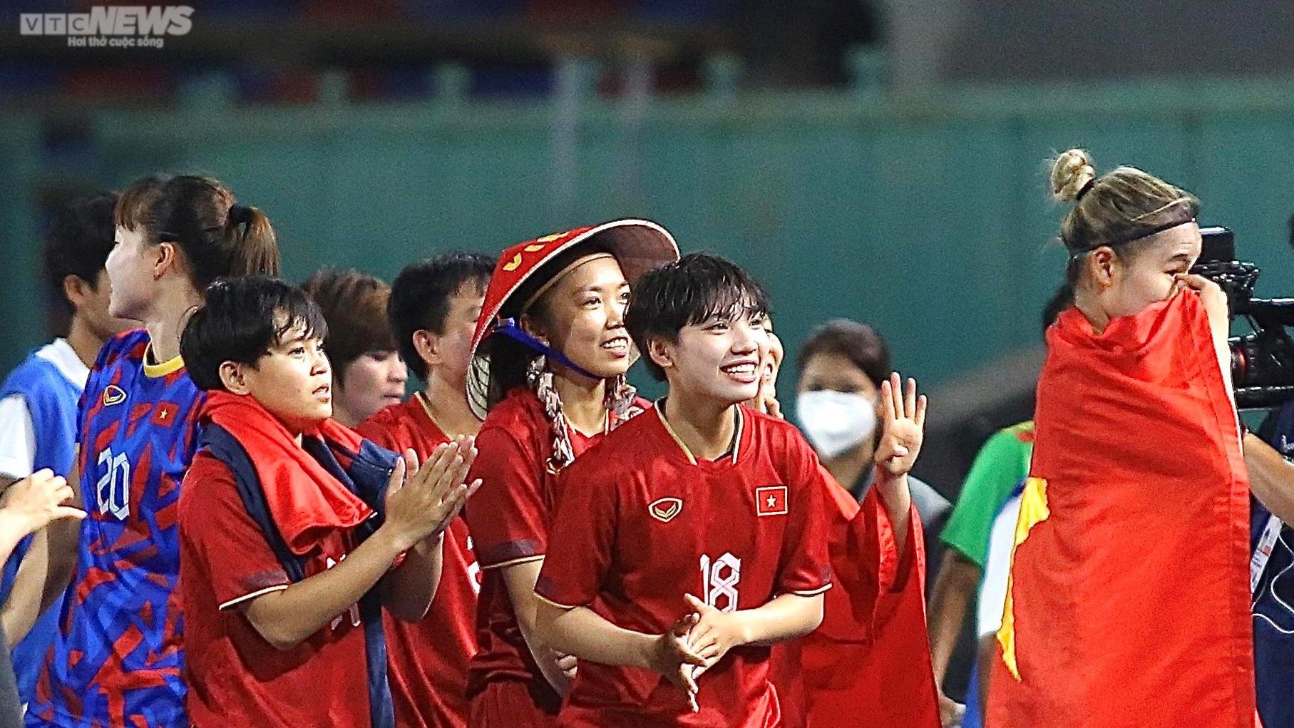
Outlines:
[{"label": "short black hair of the player wearing number 18", "polygon": [[736,264],[694,252],[644,273],[629,296],[625,327],[643,353],[643,365],[657,381],[665,370],[647,354],[648,339],[678,341],[685,326],[712,317],[736,319],[769,313],[769,294]]}]

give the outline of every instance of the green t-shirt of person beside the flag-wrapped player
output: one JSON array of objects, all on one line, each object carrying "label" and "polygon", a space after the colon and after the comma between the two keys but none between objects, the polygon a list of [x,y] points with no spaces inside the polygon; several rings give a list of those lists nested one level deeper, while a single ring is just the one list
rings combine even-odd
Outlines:
[{"label": "green t-shirt of person beside the flag-wrapped player", "polygon": [[1029,477],[1034,454],[1034,423],[1022,422],[998,431],[974,458],[958,504],[943,526],[943,543],[983,568],[989,533],[1011,491]]}]

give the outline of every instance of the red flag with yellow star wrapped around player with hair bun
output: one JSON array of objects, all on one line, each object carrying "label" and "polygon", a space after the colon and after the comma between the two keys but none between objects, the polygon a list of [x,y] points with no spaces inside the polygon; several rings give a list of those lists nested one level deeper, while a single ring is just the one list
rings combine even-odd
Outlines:
[{"label": "red flag with yellow star wrapped around player with hair bun", "polygon": [[1249,480],[1203,303],[1047,332],[991,728],[1254,725]]}]

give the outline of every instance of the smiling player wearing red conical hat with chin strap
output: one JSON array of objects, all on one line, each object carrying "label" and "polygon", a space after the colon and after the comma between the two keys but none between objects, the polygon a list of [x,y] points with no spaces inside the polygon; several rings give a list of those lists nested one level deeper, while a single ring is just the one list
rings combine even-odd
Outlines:
[{"label": "smiling player wearing red conical hat with chin strap", "polygon": [[[625,381],[629,287],[678,259],[646,220],[616,220],[503,251],[472,337],[467,397],[484,419],[466,509],[483,570],[470,725],[554,725],[575,661],[534,640],[556,476],[648,402]],[[487,415],[488,412],[488,415]]]}]

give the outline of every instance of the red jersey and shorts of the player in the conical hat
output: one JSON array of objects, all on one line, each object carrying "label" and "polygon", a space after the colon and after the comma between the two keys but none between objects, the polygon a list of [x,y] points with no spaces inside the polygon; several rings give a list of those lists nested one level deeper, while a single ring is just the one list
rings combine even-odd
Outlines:
[{"label": "red jersey and shorts of the player in the conical hat", "polygon": [[[650,407],[641,401],[639,407]],[[578,458],[603,433],[571,431]],[[534,393],[516,389],[494,405],[480,433],[471,478],[481,486],[467,502],[465,516],[481,565],[481,594],[476,608],[477,653],[471,661],[467,694],[492,680],[523,680],[538,707],[556,712],[562,698],[540,672],[521,636],[499,566],[542,559],[556,502],[556,475],[546,466],[553,454],[553,427]]]}]

